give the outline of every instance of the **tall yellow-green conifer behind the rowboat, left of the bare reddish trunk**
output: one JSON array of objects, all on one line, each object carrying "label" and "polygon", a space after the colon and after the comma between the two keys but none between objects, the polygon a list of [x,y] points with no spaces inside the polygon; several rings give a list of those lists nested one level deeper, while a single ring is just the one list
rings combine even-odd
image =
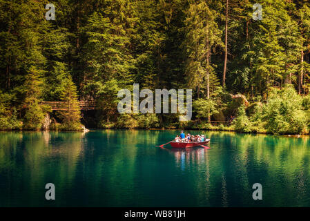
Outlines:
[{"label": "tall yellow-green conifer behind the rowboat, left of the bare reddish trunk", "polygon": [[188,55],[185,75],[188,86],[196,89],[198,98],[201,88],[206,88],[206,97],[210,98],[210,85],[214,83],[211,80],[216,79],[211,55],[216,47],[223,46],[216,16],[217,12],[209,8],[206,1],[191,1],[185,20],[184,48]]}]

